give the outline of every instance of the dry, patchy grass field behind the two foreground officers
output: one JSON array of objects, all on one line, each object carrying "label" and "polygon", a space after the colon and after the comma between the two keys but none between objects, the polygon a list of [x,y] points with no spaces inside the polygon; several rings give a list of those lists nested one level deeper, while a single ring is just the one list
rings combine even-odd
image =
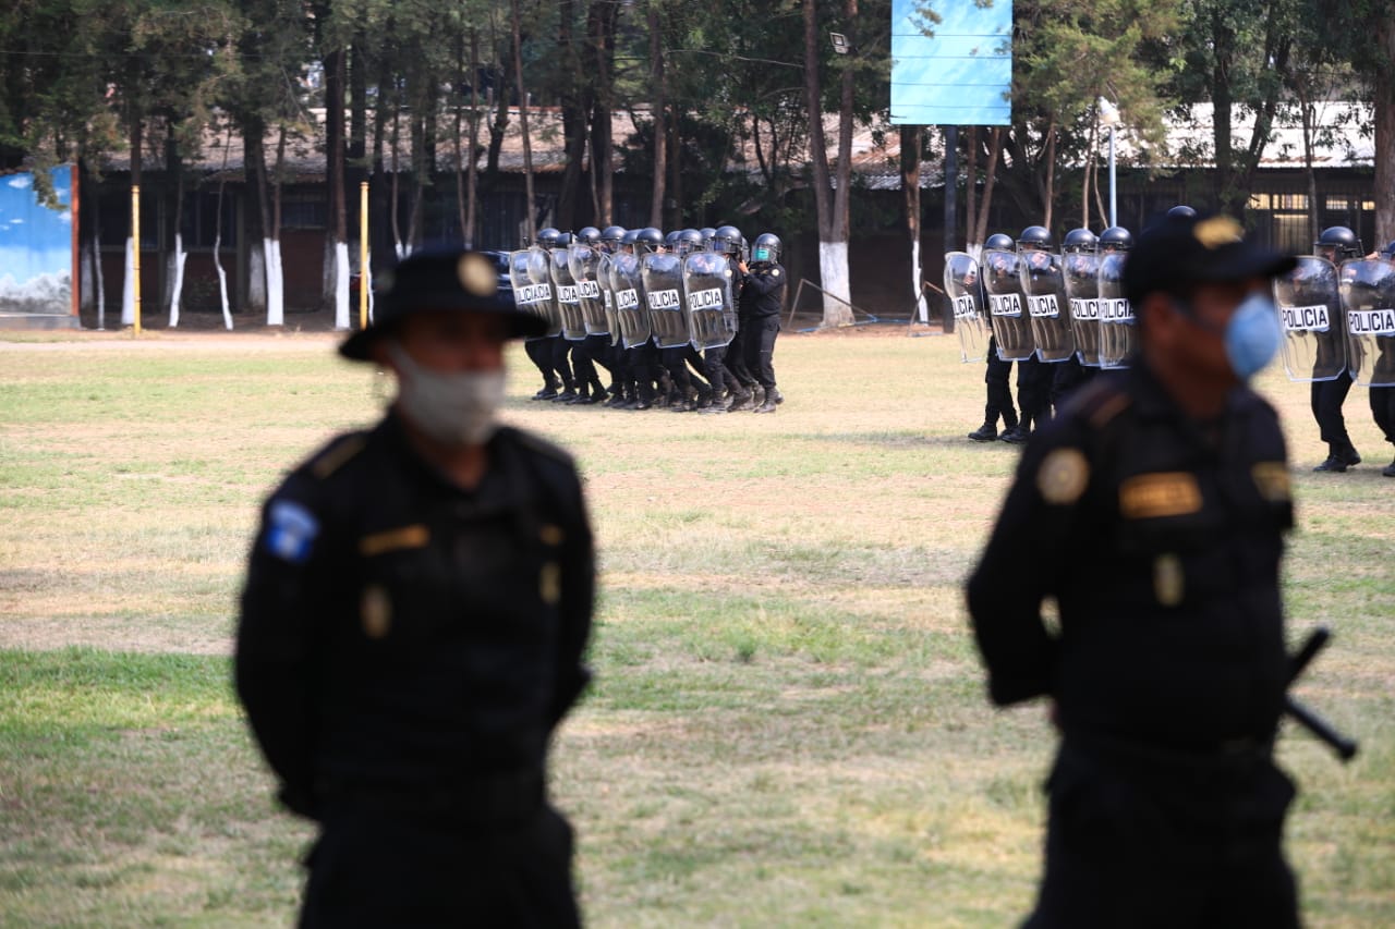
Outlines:
[{"label": "dry, patchy grass field behind the two foreground officers", "polygon": [[[310,830],[280,815],[229,686],[234,597],[279,474],[372,418],[332,336],[0,342],[0,923],[290,925]],[[554,795],[594,926],[1006,926],[1031,905],[1041,706],[983,697],[961,582],[1016,463],[965,441],[982,368],[904,329],[787,335],[776,416],[557,407],[513,354],[506,417],[575,452],[603,577],[594,689]],[[1395,925],[1395,480],[1290,435],[1300,695],[1286,731],[1313,926]]]}]

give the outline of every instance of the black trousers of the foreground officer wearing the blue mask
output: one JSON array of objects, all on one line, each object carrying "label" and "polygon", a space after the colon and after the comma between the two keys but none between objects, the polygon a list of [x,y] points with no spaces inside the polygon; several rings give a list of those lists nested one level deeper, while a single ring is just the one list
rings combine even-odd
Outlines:
[{"label": "black trousers of the foreground officer wearing the blue mask", "polygon": [[1267,757],[1246,770],[1156,767],[1062,746],[1046,875],[1024,925],[1297,929],[1297,886],[1281,849],[1289,780]]}]

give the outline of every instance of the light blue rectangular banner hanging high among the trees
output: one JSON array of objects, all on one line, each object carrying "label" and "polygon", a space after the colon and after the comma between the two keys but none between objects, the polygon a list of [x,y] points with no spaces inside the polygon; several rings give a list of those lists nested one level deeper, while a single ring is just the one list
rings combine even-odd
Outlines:
[{"label": "light blue rectangular banner hanging high among the trees", "polygon": [[891,0],[891,123],[1010,126],[1011,86],[1013,0]]}]

